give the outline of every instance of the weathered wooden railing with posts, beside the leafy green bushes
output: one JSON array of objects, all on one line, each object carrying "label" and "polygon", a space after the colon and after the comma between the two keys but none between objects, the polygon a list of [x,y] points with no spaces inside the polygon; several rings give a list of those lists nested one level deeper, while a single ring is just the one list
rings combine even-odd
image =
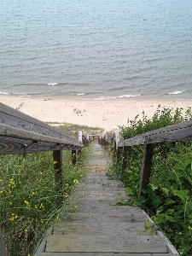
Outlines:
[{"label": "weathered wooden railing with posts, beside the leafy green bushes", "polygon": [[[143,166],[141,170],[140,186],[138,197],[141,195],[142,188],[149,183],[151,167],[154,155],[155,143],[166,142],[187,142],[192,140],[192,121],[183,122],[177,125],[169,125],[158,130],[149,131],[137,137],[119,141],[118,132],[115,132],[108,140],[114,141],[114,153],[119,159],[120,150],[123,150],[122,172],[125,172],[129,157],[129,147],[144,145]],[[102,138],[102,140],[105,138]],[[108,142],[108,140],[106,140]]]}]

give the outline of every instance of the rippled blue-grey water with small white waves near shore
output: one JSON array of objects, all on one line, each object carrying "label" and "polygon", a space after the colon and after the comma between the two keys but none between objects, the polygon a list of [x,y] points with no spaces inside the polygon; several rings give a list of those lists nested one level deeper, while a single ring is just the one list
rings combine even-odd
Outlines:
[{"label": "rippled blue-grey water with small white waves near shore", "polygon": [[192,1],[1,0],[0,94],[192,101]]}]

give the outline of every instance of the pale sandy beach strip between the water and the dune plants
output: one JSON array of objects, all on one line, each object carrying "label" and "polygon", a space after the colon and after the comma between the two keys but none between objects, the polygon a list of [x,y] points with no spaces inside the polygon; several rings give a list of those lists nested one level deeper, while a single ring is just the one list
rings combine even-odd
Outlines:
[{"label": "pale sandy beach strip between the water and the dune plants", "polygon": [[158,102],[129,100],[82,101],[72,98],[35,98],[19,96],[0,96],[0,102],[22,113],[44,122],[71,123],[101,127],[114,131],[119,125],[127,125],[143,111],[151,118],[160,104],[167,108],[192,108],[192,102]]}]

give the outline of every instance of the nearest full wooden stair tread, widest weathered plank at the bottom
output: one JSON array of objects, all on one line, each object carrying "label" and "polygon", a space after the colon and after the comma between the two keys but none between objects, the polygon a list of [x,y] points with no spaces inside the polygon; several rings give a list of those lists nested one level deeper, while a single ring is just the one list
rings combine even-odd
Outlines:
[{"label": "nearest full wooden stair tread, widest weathered plank at the bottom", "polygon": [[160,236],[49,236],[46,252],[74,253],[167,253]]}]

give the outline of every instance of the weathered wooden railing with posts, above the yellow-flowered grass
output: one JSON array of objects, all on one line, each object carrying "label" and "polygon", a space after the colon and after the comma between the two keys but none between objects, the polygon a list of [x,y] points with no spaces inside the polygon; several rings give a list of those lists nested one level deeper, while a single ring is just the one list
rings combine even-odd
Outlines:
[{"label": "weathered wooden railing with posts, above the yellow-flowered grass", "polygon": [[[62,150],[72,150],[73,165],[77,161],[77,151],[90,142],[82,132],[79,140],[34,119],[14,108],[0,103],[0,155],[27,154],[52,151],[55,163],[55,187],[62,187]],[[7,256],[0,230],[0,255]]]}]

